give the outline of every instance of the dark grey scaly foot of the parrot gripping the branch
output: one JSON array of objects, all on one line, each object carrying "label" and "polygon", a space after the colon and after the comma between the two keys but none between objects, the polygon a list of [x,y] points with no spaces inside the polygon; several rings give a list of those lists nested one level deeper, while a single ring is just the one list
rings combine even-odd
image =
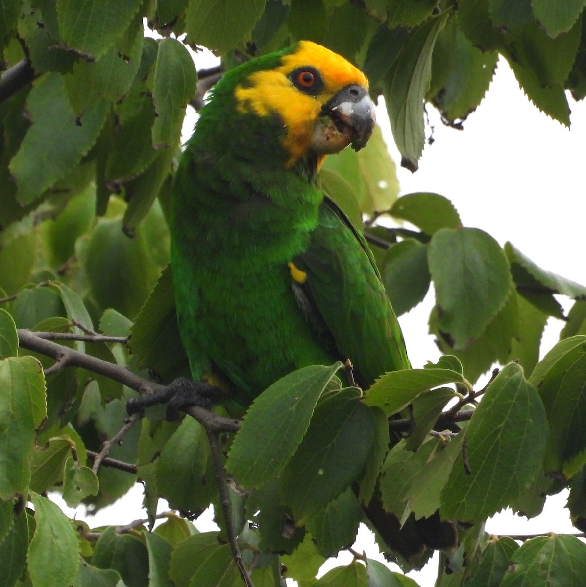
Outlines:
[{"label": "dark grey scaly foot of the parrot gripping the branch", "polygon": [[179,420],[179,412],[189,406],[198,406],[209,410],[221,395],[222,392],[209,383],[178,377],[168,386],[154,393],[132,397],[126,402],[126,411],[132,416],[132,414],[148,407],[166,403],[166,419],[176,421]]}]

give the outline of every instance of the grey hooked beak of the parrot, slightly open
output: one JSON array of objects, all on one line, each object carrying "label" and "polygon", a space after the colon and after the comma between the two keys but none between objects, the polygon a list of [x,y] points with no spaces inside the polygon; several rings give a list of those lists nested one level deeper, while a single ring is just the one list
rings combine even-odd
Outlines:
[{"label": "grey hooked beak of the parrot, slightly open", "polygon": [[343,87],[324,104],[313,134],[318,153],[337,153],[349,144],[354,150],[366,145],[374,129],[374,104],[362,86]]}]

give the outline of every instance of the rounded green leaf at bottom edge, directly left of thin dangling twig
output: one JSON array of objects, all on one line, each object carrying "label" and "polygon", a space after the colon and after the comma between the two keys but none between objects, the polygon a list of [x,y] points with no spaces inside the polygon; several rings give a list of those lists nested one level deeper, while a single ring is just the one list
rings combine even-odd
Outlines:
[{"label": "rounded green leaf at bottom edge, directly left of thin dangling twig", "polygon": [[239,576],[230,545],[220,546],[217,532],[186,538],[171,554],[169,576],[177,587],[231,587]]}]

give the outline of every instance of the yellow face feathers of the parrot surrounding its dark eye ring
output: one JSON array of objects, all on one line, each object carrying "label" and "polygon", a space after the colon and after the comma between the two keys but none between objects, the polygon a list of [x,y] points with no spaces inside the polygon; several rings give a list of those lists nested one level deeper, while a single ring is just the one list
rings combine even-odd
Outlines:
[{"label": "yellow face feathers of the parrot surrounding its dark eye ring", "polygon": [[[298,90],[287,77],[304,65],[316,68],[324,83],[317,96]],[[277,113],[283,120],[283,146],[291,158],[292,166],[306,153],[319,119],[322,106],[343,87],[357,84],[368,89],[364,73],[333,51],[311,41],[301,41],[296,52],[284,55],[282,65],[276,69],[255,72],[247,80],[247,86],[235,90],[238,109],[242,113],[255,112],[258,116]]]}]

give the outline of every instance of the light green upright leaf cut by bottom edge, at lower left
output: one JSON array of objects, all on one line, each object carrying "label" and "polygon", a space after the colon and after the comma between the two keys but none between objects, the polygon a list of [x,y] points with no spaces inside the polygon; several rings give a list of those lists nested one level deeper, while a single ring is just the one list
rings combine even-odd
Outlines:
[{"label": "light green upright leaf cut by bottom edge, at lower left", "polygon": [[69,518],[42,495],[33,493],[35,534],[28,549],[28,572],[33,585],[65,587],[79,568],[79,542]]}]

